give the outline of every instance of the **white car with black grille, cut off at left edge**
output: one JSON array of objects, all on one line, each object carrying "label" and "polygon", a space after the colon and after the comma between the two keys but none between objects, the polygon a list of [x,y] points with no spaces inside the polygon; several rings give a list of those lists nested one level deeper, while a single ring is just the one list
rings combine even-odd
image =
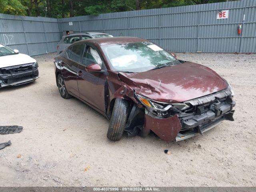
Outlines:
[{"label": "white car with black grille, cut off at left edge", "polygon": [[18,50],[0,44],[0,88],[38,79],[38,63]]}]

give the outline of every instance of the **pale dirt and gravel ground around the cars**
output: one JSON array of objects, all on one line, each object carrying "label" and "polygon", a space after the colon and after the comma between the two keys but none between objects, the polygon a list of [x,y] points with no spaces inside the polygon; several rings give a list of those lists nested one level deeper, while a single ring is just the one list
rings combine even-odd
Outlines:
[{"label": "pale dirt and gravel ground around the cars", "polygon": [[12,141],[0,150],[0,186],[256,186],[256,54],[177,54],[226,78],[237,106],[234,122],[170,144],[153,134],[108,140],[108,120],[60,97],[54,55],[35,57],[36,82],[0,90],[0,124],[24,127],[0,135]]}]

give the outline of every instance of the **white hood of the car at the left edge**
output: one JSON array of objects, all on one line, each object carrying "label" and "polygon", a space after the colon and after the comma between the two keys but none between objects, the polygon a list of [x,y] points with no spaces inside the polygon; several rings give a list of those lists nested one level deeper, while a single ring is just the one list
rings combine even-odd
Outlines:
[{"label": "white hood of the car at the left edge", "polygon": [[35,59],[21,53],[15,55],[0,56],[0,68],[34,62],[36,62]]}]

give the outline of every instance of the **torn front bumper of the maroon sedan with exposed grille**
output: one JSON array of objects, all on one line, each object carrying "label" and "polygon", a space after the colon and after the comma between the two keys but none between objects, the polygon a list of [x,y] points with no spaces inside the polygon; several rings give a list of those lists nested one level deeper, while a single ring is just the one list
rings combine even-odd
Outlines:
[{"label": "torn front bumper of the maroon sedan with exposed grille", "polygon": [[[190,112],[180,112],[168,118],[160,118],[152,112],[145,112],[143,132],[153,131],[166,142],[181,141],[214,128],[222,120],[234,121],[235,102],[229,92],[199,98],[190,103]],[[217,96],[217,97],[216,97]]]}]

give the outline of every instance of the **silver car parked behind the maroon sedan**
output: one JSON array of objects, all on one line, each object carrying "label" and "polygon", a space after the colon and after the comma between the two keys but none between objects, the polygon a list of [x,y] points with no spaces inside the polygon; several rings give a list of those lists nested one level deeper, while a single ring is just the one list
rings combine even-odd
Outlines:
[{"label": "silver car parked behind the maroon sedan", "polygon": [[74,33],[70,35],[65,35],[61,38],[60,42],[57,45],[57,53],[60,54],[72,43],[85,39],[92,38],[103,38],[103,37],[113,37],[110,34],[103,32],[86,32],[86,33]]}]

